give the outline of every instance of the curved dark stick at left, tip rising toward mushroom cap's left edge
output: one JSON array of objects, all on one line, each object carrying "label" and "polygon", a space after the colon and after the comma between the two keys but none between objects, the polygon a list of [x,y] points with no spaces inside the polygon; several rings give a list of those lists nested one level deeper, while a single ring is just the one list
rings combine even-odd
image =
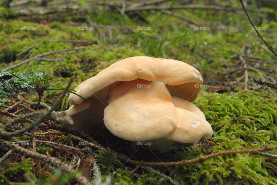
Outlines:
[{"label": "curved dark stick at left, tip rising toward mushroom cap's left edge", "polygon": [[71,78],[70,82],[68,83],[67,87],[65,88],[65,90],[63,91],[61,96],[54,102],[52,108],[45,110],[37,120],[31,122],[31,125],[29,127],[24,127],[24,128],[22,128],[18,131],[14,131],[14,132],[7,132],[7,131],[0,128],[0,136],[1,137],[12,137],[12,136],[16,136],[16,135],[22,134],[24,132],[28,132],[28,131],[31,131],[31,130],[35,129],[49,114],[51,114],[52,111],[57,110],[57,108],[60,105],[65,93],[67,92],[70,84],[72,83],[72,80],[73,79]]}]

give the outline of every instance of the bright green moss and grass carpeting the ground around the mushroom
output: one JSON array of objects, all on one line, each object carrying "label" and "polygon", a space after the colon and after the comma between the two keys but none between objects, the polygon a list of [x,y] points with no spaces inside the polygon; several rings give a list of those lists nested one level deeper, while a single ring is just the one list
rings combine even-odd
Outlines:
[{"label": "bright green moss and grass carpeting the ground around the mushroom", "polygon": [[[178,2],[171,1],[169,5],[176,5],[176,3]],[[227,1],[221,3],[224,5]],[[239,1],[232,1],[228,6],[241,7]],[[249,5],[249,8],[257,9],[254,4]],[[13,69],[14,72],[44,69],[49,76],[50,84],[55,86],[66,87],[73,77],[70,88],[74,89],[80,82],[96,75],[108,65],[131,56],[173,58],[189,63],[201,72],[204,84],[208,88],[201,89],[194,103],[212,125],[214,133],[209,140],[216,145],[181,146],[168,154],[153,153],[156,157],[149,158],[143,156],[144,161],[181,161],[226,150],[277,145],[277,96],[274,94],[274,89],[272,93],[269,88],[260,90],[251,88],[257,85],[252,78],[260,77],[259,73],[266,78],[272,74],[272,78],[276,79],[276,61],[267,62],[253,58],[247,60],[248,65],[258,69],[259,73],[248,70],[249,81],[246,90],[244,71],[233,71],[243,66],[239,55],[275,59],[252,30],[252,26],[241,10],[235,12],[227,12],[224,9],[220,11],[174,10],[178,14],[193,20],[208,22],[211,25],[209,30],[197,30],[194,24],[188,24],[160,11],[141,11],[139,15],[143,19],[138,19],[135,13],[121,15],[116,10],[103,8],[99,14],[87,13],[94,23],[101,25],[90,31],[79,29],[81,26],[88,26],[86,23],[77,21],[86,17],[74,15],[75,19],[72,15],[65,17],[63,22],[53,21],[44,24],[40,20],[36,23],[22,21],[6,8],[2,9],[0,10],[1,68],[8,68],[38,54],[81,47],[78,50],[58,52],[43,57],[62,58],[59,61],[35,59]],[[262,10],[273,11],[268,8]],[[261,31],[261,34],[276,50],[277,46],[274,43],[277,39],[275,34],[277,22],[273,18],[269,20],[266,13],[258,14],[250,11],[250,16],[257,26],[267,28]],[[222,24],[228,29],[219,29]],[[36,29],[24,30],[22,27]],[[138,30],[137,27],[148,27],[151,30]],[[18,53],[31,46],[34,47],[18,56]],[[42,101],[51,105],[61,93],[62,90],[44,93]],[[67,97],[68,94],[64,97],[59,110],[66,110],[70,106]],[[24,95],[21,98],[35,102],[38,96]],[[20,138],[22,137],[18,139]],[[66,142],[69,141],[65,141],[64,144]],[[40,152],[46,153],[46,150]],[[51,155],[53,151],[49,149],[47,152]],[[120,158],[106,151],[96,153],[101,158],[98,166],[102,178],[111,177],[112,184],[171,184],[168,179],[141,169],[136,172],[140,176],[134,176],[131,174],[134,165],[124,163]],[[277,150],[271,150],[268,153],[277,154]],[[4,153],[0,154],[1,157]],[[143,157],[134,155],[135,159]],[[0,184],[25,182],[23,178],[18,178],[24,172],[30,174],[31,178],[39,184],[47,184],[49,181],[52,184],[66,184],[66,181],[69,182],[75,175],[59,176],[53,173],[36,177],[33,173],[36,162],[31,159],[18,162],[17,166],[9,165],[9,161],[0,165]],[[180,184],[277,184],[276,158],[254,153],[224,155],[202,163],[157,166],[154,169],[170,176]]]}]

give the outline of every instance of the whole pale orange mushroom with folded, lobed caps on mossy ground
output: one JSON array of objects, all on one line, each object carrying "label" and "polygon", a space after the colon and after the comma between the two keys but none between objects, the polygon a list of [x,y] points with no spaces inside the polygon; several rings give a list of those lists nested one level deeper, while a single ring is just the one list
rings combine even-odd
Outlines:
[{"label": "whole pale orange mushroom with folded, lobed caps on mossy ground", "polygon": [[203,83],[184,62],[135,56],[117,61],[79,84],[70,94],[67,115],[74,127],[96,134],[106,127],[129,141],[163,149],[212,136],[212,127],[192,101]]}]

